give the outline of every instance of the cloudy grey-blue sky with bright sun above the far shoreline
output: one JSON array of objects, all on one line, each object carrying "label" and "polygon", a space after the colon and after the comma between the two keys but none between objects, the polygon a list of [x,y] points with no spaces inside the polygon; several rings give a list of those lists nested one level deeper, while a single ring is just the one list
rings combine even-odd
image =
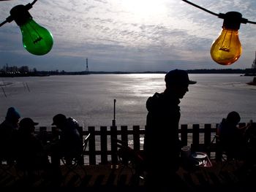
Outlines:
[{"label": "cloudy grey-blue sky with bright sun above the far shoreline", "polygon": [[[256,21],[255,0],[191,0],[211,12],[241,12]],[[10,9],[31,1],[0,1],[0,22]],[[230,66],[211,59],[210,48],[223,20],[181,0],[39,0],[29,10],[53,34],[46,55],[31,55],[13,21],[0,28],[0,68],[37,70],[169,71],[170,69],[246,69],[255,59],[256,25],[241,24],[241,57]]]}]

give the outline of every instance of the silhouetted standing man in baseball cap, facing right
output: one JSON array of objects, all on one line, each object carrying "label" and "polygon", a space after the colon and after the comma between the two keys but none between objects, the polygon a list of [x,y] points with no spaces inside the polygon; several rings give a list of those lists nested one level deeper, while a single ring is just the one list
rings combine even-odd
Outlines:
[{"label": "silhouetted standing man in baseball cap, facing right", "polygon": [[172,70],[165,75],[165,91],[154,93],[146,101],[148,115],[143,150],[148,191],[170,191],[178,185],[175,180],[181,151],[178,139],[181,112],[178,104],[189,91],[189,84],[195,83],[189,80],[184,70]]}]

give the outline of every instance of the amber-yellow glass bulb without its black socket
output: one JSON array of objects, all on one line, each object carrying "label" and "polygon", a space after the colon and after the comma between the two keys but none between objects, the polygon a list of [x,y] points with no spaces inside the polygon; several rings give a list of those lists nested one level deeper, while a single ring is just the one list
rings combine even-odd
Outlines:
[{"label": "amber-yellow glass bulb without its black socket", "polygon": [[211,58],[221,65],[230,65],[242,53],[238,30],[223,28],[219,37],[211,45]]}]

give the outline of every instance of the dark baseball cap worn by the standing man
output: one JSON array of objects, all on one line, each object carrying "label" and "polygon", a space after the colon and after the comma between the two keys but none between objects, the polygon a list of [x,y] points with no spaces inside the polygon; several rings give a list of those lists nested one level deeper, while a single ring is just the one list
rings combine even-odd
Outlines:
[{"label": "dark baseball cap worn by the standing man", "polygon": [[174,69],[165,74],[165,82],[167,85],[189,85],[195,84],[196,81],[189,80],[189,75],[181,69]]}]

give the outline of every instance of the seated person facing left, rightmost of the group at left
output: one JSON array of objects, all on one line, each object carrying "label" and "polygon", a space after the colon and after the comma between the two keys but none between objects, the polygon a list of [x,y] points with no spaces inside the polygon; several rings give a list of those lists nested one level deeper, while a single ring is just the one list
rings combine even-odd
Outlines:
[{"label": "seated person facing left, rightmost of the group at left", "polygon": [[53,117],[52,125],[60,129],[60,139],[50,149],[53,164],[59,164],[59,159],[63,157],[66,164],[72,164],[72,159],[80,158],[83,153],[83,139],[78,131],[78,122],[74,118],[58,114]]}]

